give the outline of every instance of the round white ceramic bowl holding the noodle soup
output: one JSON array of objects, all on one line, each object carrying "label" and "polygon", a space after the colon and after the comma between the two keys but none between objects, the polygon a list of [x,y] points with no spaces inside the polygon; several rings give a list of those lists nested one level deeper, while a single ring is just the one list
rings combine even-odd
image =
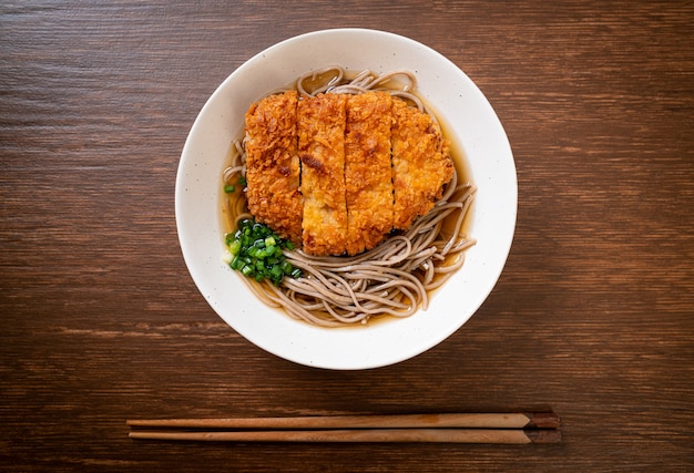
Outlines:
[{"label": "round white ceramic bowl holding the noodle soup", "polygon": [[[409,70],[418,93],[462,150],[477,197],[465,266],[428,310],[405,319],[346,329],[313,327],[257,300],[223,263],[222,172],[252,102],[305,72],[340,64],[351,71]],[[382,31],[336,29],[283,41],[234,71],[203,106],[176,177],[175,212],[185,263],[212,308],[251,342],[297,363],[335,370],[384,367],[415,357],[458,330],[494,287],[516,227],[513,155],[499,119],[474,83],[432,49]],[[234,362],[234,360],[229,360]]]}]

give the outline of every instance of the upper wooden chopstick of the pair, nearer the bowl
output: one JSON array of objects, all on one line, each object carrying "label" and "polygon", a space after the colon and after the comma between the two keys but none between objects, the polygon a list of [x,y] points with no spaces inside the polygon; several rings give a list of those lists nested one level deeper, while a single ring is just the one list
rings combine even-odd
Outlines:
[{"label": "upper wooden chopstick of the pair, nearer the bowl", "polygon": [[127,425],[176,429],[557,429],[554,412],[392,415],[306,415],[296,418],[135,419]]}]

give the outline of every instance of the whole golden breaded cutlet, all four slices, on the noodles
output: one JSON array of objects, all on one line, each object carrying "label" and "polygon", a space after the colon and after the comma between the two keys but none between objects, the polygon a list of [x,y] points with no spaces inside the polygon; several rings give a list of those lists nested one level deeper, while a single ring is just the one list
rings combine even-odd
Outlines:
[{"label": "whole golden breaded cutlet, all four slices, on the noodles", "polygon": [[314,256],[407,230],[453,175],[438,124],[385,92],[271,95],[248,110],[245,145],[248,209]]}]

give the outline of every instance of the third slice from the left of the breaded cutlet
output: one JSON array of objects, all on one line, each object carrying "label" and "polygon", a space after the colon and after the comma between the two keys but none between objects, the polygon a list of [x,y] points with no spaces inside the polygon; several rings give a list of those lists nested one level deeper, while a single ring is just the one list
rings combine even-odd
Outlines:
[{"label": "third slice from the left of the breaded cutlet", "polygon": [[378,245],[392,229],[390,94],[349,95],[345,128],[347,254]]}]

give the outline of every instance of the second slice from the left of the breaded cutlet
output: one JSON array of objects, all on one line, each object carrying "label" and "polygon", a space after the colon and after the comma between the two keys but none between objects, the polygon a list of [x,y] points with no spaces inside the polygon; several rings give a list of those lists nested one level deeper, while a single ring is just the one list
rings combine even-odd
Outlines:
[{"label": "second slice from the left of the breaded cutlet", "polygon": [[299,100],[298,152],[304,195],[304,251],[341,255],[347,243],[345,95]]}]

